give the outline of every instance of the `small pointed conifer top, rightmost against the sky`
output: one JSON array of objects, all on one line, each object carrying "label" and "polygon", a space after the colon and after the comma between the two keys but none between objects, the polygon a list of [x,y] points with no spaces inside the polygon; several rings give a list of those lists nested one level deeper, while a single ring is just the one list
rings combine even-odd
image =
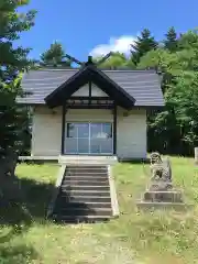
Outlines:
[{"label": "small pointed conifer top, rightmost against the sky", "polygon": [[165,48],[167,48],[169,52],[176,52],[178,50],[178,40],[174,26],[172,26],[168,30],[165,36],[166,36],[166,40],[164,41]]}]

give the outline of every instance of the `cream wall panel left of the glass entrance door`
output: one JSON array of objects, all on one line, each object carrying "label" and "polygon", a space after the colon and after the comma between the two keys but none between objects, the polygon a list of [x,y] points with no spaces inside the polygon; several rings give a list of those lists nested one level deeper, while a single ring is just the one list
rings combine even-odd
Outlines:
[{"label": "cream wall panel left of the glass entrance door", "polygon": [[46,107],[37,107],[33,114],[32,155],[54,156],[61,153],[62,114],[61,109],[54,113]]}]

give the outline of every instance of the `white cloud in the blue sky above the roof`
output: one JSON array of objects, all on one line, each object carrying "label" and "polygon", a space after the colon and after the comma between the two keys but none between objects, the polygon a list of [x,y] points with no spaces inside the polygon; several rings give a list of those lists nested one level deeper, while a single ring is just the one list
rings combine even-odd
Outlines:
[{"label": "white cloud in the blue sky above the roof", "polygon": [[92,48],[90,55],[94,57],[103,56],[109,52],[120,52],[129,54],[131,44],[134,44],[135,36],[122,35],[119,37],[110,37],[108,44],[100,44]]}]

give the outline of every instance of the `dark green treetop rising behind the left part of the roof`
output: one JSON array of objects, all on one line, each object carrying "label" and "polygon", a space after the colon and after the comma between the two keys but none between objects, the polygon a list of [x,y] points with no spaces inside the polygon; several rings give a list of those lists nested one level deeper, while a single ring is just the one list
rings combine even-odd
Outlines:
[{"label": "dark green treetop rising behind the left part of the roof", "polygon": [[70,67],[72,62],[65,57],[63,45],[58,42],[51,44],[51,47],[41,55],[42,65],[44,66],[63,66]]}]

